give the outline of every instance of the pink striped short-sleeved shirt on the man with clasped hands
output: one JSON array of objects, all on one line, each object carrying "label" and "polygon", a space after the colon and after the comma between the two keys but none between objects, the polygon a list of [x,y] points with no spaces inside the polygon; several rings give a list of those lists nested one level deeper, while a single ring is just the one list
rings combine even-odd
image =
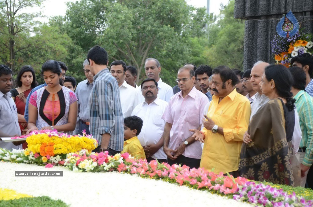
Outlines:
[{"label": "pink striped short-sleeved shirt on the man with clasped hands", "polygon": [[[202,124],[203,110],[207,103],[208,97],[195,87],[185,98],[182,97],[182,91],[171,98],[162,116],[162,119],[167,123],[173,124],[168,148],[176,150],[183,141],[193,134],[189,129],[198,129]],[[201,154],[201,143],[196,141],[188,145],[182,155],[201,159]]]}]

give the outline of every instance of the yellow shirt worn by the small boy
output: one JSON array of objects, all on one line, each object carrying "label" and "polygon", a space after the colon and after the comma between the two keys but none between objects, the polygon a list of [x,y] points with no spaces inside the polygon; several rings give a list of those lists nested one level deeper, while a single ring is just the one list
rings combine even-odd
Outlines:
[{"label": "yellow shirt worn by the small boy", "polygon": [[146,159],[145,151],[143,150],[139,139],[136,137],[132,137],[131,139],[127,139],[124,141],[124,148],[121,154],[128,152],[132,157]]}]

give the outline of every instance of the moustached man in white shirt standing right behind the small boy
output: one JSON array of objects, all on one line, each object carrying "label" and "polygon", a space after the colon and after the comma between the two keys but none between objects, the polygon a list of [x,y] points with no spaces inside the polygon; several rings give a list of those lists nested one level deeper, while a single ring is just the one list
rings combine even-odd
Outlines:
[{"label": "moustached man in white shirt standing right behind the small boy", "polygon": [[161,138],[165,125],[162,115],[168,103],[157,96],[158,83],[154,79],[147,78],[142,81],[141,88],[145,101],[138,104],[131,113],[132,116],[143,120],[141,132],[137,137],[145,150],[148,162],[155,159],[160,163],[167,162]]}]

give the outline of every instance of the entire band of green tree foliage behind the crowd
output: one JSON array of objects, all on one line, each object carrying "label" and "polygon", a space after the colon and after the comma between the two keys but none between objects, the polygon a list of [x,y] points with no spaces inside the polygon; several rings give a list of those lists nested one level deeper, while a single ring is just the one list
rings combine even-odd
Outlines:
[{"label": "entire band of green tree foliage behind the crowd", "polygon": [[108,51],[109,63],[136,66],[137,83],[146,77],[146,58],[160,61],[161,78],[172,86],[184,63],[243,65],[244,21],[233,18],[234,0],[217,17],[184,0],[80,0],[67,3],[65,16],[49,23],[34,21],[38,13],[21,12],[43,1],[0,0],[0,58],[14,72],[29,64],[39,74],[42,64],[54,59],[66,63],[67,74],[79,82],[94,45]]}]

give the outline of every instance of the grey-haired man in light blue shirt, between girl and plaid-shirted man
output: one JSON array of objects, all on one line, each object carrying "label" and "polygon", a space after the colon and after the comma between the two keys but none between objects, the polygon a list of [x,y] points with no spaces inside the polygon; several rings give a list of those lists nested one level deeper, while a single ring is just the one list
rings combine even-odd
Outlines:
[{"label": "grey-haired man in light blue shirt, between girl and plaid-shirted man", "polygon": [[76,97],[78,99],[78,117],[74,134],[83,135],[82,131],[86,130],[86,134],[90,134],[90,101],[89,96],[94,86],[94,75],[90,72],[90,66],[87,59],[83,63],[86,80],[77,84]]}]

